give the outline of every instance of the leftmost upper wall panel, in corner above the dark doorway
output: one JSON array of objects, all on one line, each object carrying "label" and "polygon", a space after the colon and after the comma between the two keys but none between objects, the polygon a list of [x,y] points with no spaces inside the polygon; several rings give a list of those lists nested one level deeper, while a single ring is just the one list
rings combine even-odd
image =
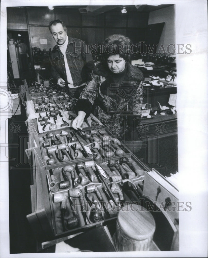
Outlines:
[{"label": "leftmost upper wall panel, in corner above the dark doorway", "polygon": [[28,29],[25,9],[7,7],[7,29]]}]

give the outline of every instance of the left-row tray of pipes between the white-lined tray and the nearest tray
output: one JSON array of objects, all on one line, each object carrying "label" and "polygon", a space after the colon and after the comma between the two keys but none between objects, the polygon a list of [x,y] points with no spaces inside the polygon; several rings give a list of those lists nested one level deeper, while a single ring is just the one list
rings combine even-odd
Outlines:
[{"label": "left-row tray of pipes between the white-lined tray and the nearest tray", "polygon": [[39,146],[46,167],[90,159],[75,131],[68,128],[39,134]]}]

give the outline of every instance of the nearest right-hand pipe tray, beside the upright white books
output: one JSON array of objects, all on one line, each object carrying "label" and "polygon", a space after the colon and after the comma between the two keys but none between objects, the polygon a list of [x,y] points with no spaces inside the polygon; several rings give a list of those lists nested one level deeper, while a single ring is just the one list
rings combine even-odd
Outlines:
[{"label": "nearest right-hand pipe tray, beside the upright white books", "polygon": [[134,155],[126,155],[119,160],[109,160],[98,164],[98,170],[112,199],[120,205],[135,201],[140,204],[143,193],[144,172],[149,169]]}]

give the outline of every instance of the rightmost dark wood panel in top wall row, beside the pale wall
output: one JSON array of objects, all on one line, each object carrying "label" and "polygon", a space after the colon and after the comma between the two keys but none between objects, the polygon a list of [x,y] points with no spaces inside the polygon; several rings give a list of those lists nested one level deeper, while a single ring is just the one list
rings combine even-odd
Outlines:
[{"label": "rightmost dark wood panel in top wall row, beside the pale wall", "polygon": [[148,25],[148,19],[148,12],[128,12],[128,27],[145,28]]}]

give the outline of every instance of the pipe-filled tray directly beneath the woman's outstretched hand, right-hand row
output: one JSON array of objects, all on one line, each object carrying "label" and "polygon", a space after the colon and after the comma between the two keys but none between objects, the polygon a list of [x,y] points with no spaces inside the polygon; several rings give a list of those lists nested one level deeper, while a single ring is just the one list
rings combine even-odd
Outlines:
[{"label": "pipe-filled tray directly beneath the woman's outstretched hand, right-hand row", "polygon": [[94,161],[104,162],[130,154],[130,150],[113,138],[105,128],[100,128],[99,131],[83,128],[82,131],[76,131],[76,135]]}]

